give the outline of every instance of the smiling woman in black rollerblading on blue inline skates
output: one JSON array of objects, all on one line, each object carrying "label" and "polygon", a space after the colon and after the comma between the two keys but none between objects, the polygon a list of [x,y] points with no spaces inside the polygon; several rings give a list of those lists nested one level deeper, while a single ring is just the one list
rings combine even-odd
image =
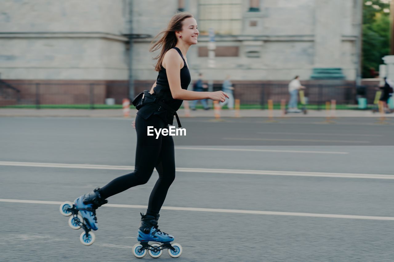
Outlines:
[{"label": "smiling woman in black rollerblading on blue inline skates", "polygon": [[[152,257],[159,257],[163,249],[167,249],[172,257],[181,255],[181,245],[171,244],[174,237],[158,228],[160,209],[175,179],[174,141],[172,136],[162,134],[157,138],[149,136],[147,127],[156,130],[169,129],[168,125],[173,124],[174,116],[180,127],[176,111],[183,100],[211,99],[224,102],[229,98],[223,91],[187,90],[191,77],[186,53],[191,45],[197,44],[198,35],[197,22],[193,15],[180,12],[171,18],[167,29],[152,41],[151,52],[161,49],[160,54],[155,57],[158,59],[155,65],[158,77],[150,91],[145,90],[133,100],[133,104],[138,109],[136,119],[132,123],[137,132],[134,172],[115,178],[102,188],[96,188],[93,192],[78,197],[75,203],[65,202],[60,206],[63,215],[72,215],[69,221],[72,228],[84,228],[85,232],[82,232],[80,238],[83,244],[91,245],[94,242],[94,234],[91,230],[98,229],[96,209],[107,203],[108,197],[147,183],[156,168],[159,178],[149,197],[146,214],[141,213],[141,224],[137,235],[139,243],[134,245],[132,252],[138,258],[142,258],[147,253]],[[158,37],[160,39],[154,42]]]}]

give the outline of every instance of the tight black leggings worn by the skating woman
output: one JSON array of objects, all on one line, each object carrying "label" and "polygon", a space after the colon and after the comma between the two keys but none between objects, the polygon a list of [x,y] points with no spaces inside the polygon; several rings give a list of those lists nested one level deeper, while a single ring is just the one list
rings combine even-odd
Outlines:
[{"label": "tight black leggings worn by the skating woman", "polygon": [[147,213],[158,214],[165,196],[167,196],[168,188],[175,179],[174,140],[169,135],[163,136],[161,134],[156,139],[154,131],[153,136],[148,136],[148,126],[153,126],[157,130],[159,128],[168,129],[164,120],[157,115],[152,114],[147,120],[137,115],[137,149],[134,172],[113,179],[100,189],[100,194],[106,199],[130,187],[143,185],[151,177],[153,168],[156,168],[159,179],[156,181],[149,197]]}]

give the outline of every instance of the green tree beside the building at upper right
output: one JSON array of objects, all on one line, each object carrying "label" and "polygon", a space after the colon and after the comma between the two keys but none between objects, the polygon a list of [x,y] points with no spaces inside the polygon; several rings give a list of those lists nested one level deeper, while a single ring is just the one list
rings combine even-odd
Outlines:
[{"label": "green tree beside the building at upper right", "polygon": [[372,77],[390,53],[390,10],[388,1],[364,0],[362,11],[362,77]]}]

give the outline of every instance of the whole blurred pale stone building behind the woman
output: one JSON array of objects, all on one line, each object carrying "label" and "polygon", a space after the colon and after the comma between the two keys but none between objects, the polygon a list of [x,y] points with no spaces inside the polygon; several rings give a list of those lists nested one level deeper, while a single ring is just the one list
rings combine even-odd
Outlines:
[{"label": "whole blurred pale stone building behind the woman", "polygon": [[[216,83],[287,83],[342,79],[360,67],[362,0],[3,0],[0,77],[37,81],[107,83],[136,90],[152,85],[155,35],[177,11],[199,25],[188,52],[192,79],[203,72]],[[209,28],[215,32],[208,66]],[[130,42],[131,39],[131,42]],[[212,59],[211,59],[212,60]],[[131,85],[133,87],[133,85]]]}]

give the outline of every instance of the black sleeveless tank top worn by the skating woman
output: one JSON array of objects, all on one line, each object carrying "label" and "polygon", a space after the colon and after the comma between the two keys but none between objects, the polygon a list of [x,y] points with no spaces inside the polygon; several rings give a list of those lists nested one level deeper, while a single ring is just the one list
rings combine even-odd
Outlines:
[{"label": "black sleeveless tank top worn by the skating woman", "polygon": [[[186,65],[186,61],[180,52],[179,48],[174,47],[175,50],[178,51],[180,56],[183,59],[184,66],[180,69],[180,86],[182,89],[188,89],[188,86],[191,81],[190,71],[188,66]],[[182,105],[183,100],[173,99],[171,95],[170,86],[167,79],[167,72],[165,68],[162,66],[159,74],[156,79],[156,87],[153,88],[153,96],[156,96],[161,101],[164,101],[167,105],[169,105],[172,109],[177,111],[179,107]],[[167,124],[172,125],[174,121],[174,115],[169,113],[169,111],[165,110],[160,105],[151,103],[144,105],[137,112],[139,116],[142,116],[144,119],[147,119],[152,114],[157,114],[160,116]]]}]

